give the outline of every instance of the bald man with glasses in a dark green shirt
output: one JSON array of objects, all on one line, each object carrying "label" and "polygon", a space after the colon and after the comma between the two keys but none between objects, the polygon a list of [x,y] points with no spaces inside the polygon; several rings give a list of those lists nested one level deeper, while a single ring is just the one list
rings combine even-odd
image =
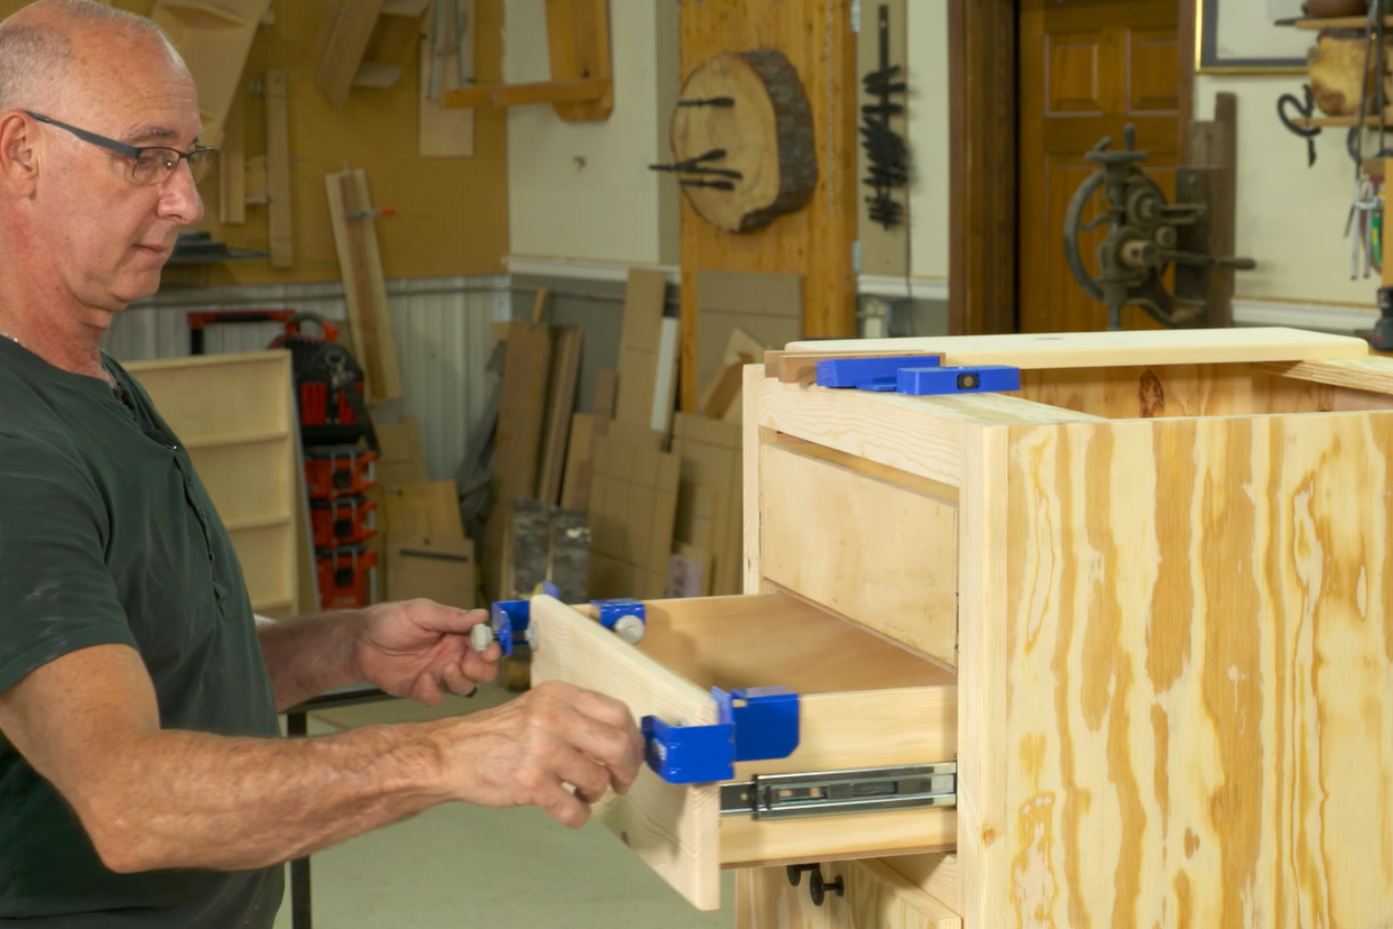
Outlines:
[{"label": "bald man with glasses in a dark green shirt", "polygon": [[560,685],[279,738],[277,708],[354,681],[468,694],[497,650],[429,602],[258,634],[188,455],[99,348],[202,214],[198,135],[149,21],[0,24],[0,926],[270,926],[288,858],[449,801],[579,826],[638,772],[625,708]]}]

